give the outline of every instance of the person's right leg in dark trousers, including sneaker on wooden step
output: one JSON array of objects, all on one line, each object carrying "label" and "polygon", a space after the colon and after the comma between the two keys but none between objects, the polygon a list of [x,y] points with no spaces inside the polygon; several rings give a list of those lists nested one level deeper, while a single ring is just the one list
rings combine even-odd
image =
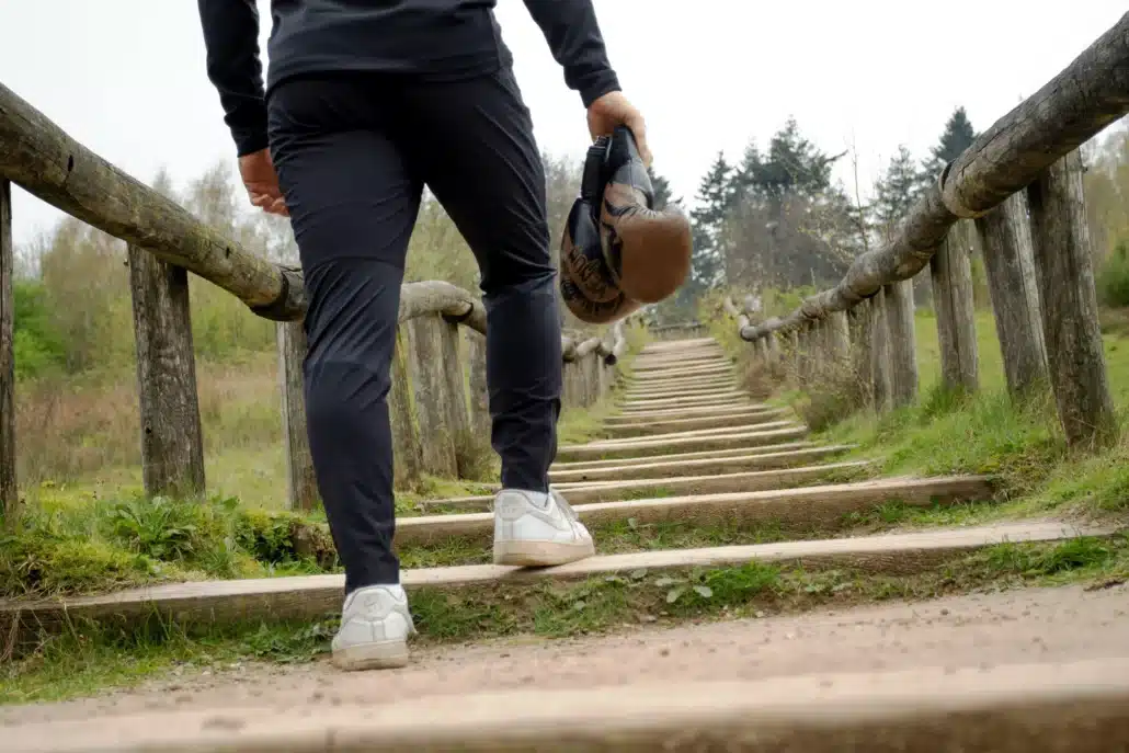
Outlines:
[{"label": "person's right leg in dark trousers, including sneaker on wooden step", "polygon": [[549,489],[557,454],[561,330],[549,253],[545,176],[530,112],[509,69],[405,93],[409,149],[474,251],[487,308],[495,562],[550,566],[590,557],[592,536]]}]

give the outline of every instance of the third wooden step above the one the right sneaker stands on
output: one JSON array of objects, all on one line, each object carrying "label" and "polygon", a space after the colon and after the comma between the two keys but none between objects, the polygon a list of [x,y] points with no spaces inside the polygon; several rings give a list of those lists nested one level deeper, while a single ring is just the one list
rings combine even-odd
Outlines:
[{"label": "third wooden step above the one the right sneaker stands on", "polygon": [[[790,445],[779,445],[779,447],[786,446]],[[854,445],[830,445],[825,447],[809,447],[807,449],[772,452],[773,446],[769,445],[760,448],[742,447],[741,450],[744,450],[744,455],[730,455],[726,453],[724,457],[703,457],[690,461],[672,461],[667,456],[624,458],[625,462],[618,466],[564,471],[550,470],[549,479],[552,483],[569,481],[628,481],[631,479],[704,475],[707,473],[737,473],[753,470],[768,471],[814,463],[826,457],[841,455],[854,448]],[[708,454],[720,455],[720,453],[714,450]],[[651,462],[648,463],[646,461]]]}]

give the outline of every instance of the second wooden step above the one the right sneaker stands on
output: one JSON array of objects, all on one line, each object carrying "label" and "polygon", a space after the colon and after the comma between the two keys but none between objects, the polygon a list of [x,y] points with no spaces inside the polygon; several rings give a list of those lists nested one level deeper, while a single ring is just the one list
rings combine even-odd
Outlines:
[{"label": "second wooden step above the one the right sneaker stands on", "polygon": [[[675,476],[672,479],[640,479],[636,481],[579,481],[554,483],[553,487],[564,494],[570,505],[584,506],[595,502],[619,501],[624,497],[647,492],[686,496],[788,489],[822,481],[831,474],[861,472],[870,467],[870,465],[867,461],[854,461],[850,463],[829,463],[826,465],[808,465],[778,471],[747,471],[744,473]],[[489,510],[493,506],[493,496],[430,499],[419,502],[418,506],[425,510],[452,508]]]}]

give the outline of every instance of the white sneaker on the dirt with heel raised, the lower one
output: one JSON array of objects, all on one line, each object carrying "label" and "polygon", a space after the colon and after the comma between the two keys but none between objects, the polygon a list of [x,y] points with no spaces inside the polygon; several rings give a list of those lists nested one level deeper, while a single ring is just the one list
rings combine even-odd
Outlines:
[{"label": "white sneaker on the dirt with heel raised, the lower one", "polygon": [[408,664],[408,636],[415,632],[403,586],[366,586],[345,597],[333,637],[339,669],[383,669]]}]

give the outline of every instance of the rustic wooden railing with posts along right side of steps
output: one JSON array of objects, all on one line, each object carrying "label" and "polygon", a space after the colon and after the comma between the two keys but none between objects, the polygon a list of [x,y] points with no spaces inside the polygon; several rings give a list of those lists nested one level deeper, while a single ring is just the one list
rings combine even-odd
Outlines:
[{"label": "rustic wooden railing with posts along right side of steps", "polygon": [[741,338],[798,384],[852,369],[879,410],[918,389],[913,278],[928,268],[946,386],[979,387],[970,252],[979,243],[1008,388],[1049,383],[1067,440],[1115,432],[1102,350],[1078,148],[1129,113],[1129,14],[997,121],[913,207],[885,246],[787,316]]}]

